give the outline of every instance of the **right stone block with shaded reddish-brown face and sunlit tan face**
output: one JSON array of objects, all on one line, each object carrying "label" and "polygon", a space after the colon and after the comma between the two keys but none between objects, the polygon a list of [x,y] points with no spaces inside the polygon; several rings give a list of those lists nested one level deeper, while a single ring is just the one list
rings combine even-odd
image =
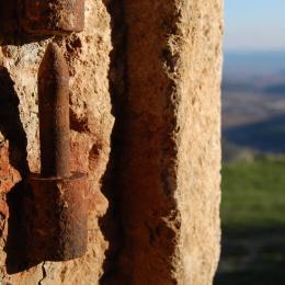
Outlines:
[{"label": "right stone block with shaded reddish-brown face and sunlit tan face", "polygon": [[126,0],[122,284],[210,285],[219,255],[220,0]]}]

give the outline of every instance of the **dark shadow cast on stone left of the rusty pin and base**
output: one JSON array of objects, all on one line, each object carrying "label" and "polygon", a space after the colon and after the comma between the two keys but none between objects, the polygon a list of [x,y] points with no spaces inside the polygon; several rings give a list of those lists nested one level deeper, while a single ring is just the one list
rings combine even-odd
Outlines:
[{"label": "dark shadow cast on stone left of the rusty pin and base", "polygon": [[14,90],[14,82],[8,69],[0,68],[0,132],[9,141],[10,164],[19,171],[22,181],[15,184],[7,195],[9,206],[7,271],[9,274],[24,271],[35,264],[27,260],[27,228],[23,223],[23,202],[26,195],[24,185],[30,170],[26,160],[26,135],[19,114],[19,98]]}]

